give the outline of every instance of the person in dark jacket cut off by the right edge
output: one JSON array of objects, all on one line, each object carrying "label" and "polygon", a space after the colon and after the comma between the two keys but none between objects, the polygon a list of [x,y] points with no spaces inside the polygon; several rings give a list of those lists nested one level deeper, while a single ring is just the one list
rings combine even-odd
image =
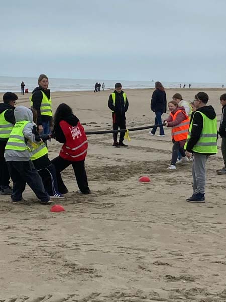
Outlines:
[{"label": "person in dark jacket cut off by the right edge", "polygon": [[220,103],[222,105],[222,115],[220,119],[220,126],[218,134],[222,138],[221,140],[221,152],[224,161],[224,167],[220,170],[216,170],[217,174],[225,175],[226,174],[226,93],[220,96]]}]

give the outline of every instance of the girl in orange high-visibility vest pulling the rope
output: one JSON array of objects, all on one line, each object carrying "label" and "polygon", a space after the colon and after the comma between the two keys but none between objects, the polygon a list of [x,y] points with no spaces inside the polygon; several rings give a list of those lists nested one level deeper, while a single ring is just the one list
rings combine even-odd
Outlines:
[{"label": "girl in orange high-visibility vest pulling the rope", "polygon": [[166,127],[172,127],[173,150],[171,163],[167,169],[176,170],[178,152],[180,152],[182,156],[178,164],[189,161],[185,155],[184,144],[187,139],[190,120],[184,107],[178,107],[176,101],[170,101],[168,107],[170,116],[164,120],[164,123]]}]

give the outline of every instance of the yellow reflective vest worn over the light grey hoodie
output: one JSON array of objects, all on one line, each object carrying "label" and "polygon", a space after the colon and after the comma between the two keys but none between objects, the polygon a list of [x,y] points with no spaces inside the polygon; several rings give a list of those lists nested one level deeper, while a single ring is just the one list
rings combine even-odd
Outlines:
[{"label": "yellow reflective vest worn over the light grey hoodie", "polygon": [[23,134],[24,127],[30,122],[20,121],[16,122],[6,144],[5,150],[13,151],[26,151],[29,150],[29,147],[25,143],[25,138]]}]

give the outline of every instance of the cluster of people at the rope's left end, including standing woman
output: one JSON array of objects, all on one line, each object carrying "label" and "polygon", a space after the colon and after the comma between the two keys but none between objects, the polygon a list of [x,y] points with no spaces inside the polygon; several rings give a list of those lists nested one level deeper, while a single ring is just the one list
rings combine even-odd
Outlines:
[{"label": "cluster of people at the rope's left end, including standing woman", "polygon": [[[48,77],[41,74],[30,98],[31,108],[15,107],[17,95],[7,92],[0,104],[0,194],[12,202],[24,201],[26,183],[41,204],[68,193],[61,172],[72,165],[78,193],[90,194],[85,171],[88,142],[84,128],[67,104],[60,104],[53,117]],[[54,126],[53,126],[54,124]],[[48,158],[47,140],[63,144],[60,154]],[[13,189],[9,186],[10,177]]]}]

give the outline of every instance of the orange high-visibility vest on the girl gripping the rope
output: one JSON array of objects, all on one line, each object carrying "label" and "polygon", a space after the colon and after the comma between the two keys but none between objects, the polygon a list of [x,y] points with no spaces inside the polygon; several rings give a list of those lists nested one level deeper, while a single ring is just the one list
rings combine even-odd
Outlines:
[{"label": "orange high-visibility vest on the girl gripping the rope", "polygon": [[175,141],[187,139],[190,124],[188,115],[183,110],[178,110],[175,114],[170,113],[172,120],[175,121],[177,114],[180,112],[185,115],[186,119],[183,120],[179,125],[172,127],[172,139],[174,139]]}]

